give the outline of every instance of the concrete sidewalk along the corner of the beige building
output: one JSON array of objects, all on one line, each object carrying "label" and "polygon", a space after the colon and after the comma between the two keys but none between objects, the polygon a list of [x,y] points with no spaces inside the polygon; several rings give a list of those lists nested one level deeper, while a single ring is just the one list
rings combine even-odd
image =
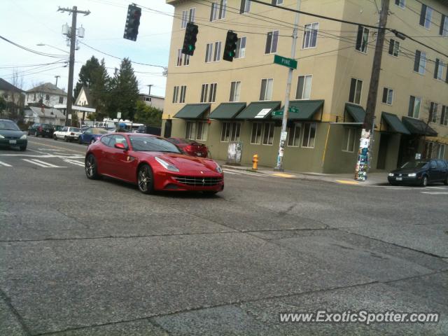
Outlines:
[{"label": "concrete sidewalk along the corner of the beige building", "polygon": [[[223,167],[223,169],[234,169],[234,170],[247,170],[252,171],[252,167],[250,166],[234,166],[234,165],[226,165],[224,161],[218,161],[219,165]],[[377,173],[369,173],[367,177],[367,181],[356,181],[354,179],[354,171],[353,174],[320,174],[320,173],[312,173],[312,172],[292,172],[292,171],[284,171],[284,172],[276,172],[272,167],[260,167],[258,166],[257,172],[259,174],[266,174],[276,177],[283,177],[285,179],[303,179],[303,180],[317,180],[317,181],[327,181],[332,183],[339,184],[349,184],[353,186],[384,186],[388,185],[387,181],[387,172],[377,172]]]}]

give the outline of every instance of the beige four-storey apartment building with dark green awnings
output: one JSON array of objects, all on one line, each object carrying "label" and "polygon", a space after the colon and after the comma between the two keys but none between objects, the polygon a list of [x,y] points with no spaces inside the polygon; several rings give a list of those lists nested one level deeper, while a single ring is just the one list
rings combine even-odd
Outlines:
[{"label": "beige four-storey apartment building with dark green awnings", "polygon": [[[297,0],[265,0],[296,8]],[[376,1],[381,3],[381,1]],[[227,160],[232,141],[241,163],[254,154],[276,165],[295,13],[248,0],[167,0],[174,6],[162,131],[207,144]],[[302,0],[300,10],[363,25],[379,20],[375,1]],[[448,158],[448,1],[390,0],[382,54],[371,169],[405,160]],[[188,21],[199,27],[193,56],[181,54]],[[238,34],[233,62],[223,60],[228,30]],[[353,172],[376,43],[376,29],[300,15],[290,90],[284,168]],[[443,55],[444,54],[444,55]]]}]

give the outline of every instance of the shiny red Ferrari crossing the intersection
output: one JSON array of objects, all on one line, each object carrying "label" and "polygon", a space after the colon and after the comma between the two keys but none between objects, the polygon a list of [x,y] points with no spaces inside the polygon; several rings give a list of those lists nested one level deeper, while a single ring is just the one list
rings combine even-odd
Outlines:
[{"label": "shiny red Ferrari crossing the intersection", "polygon": [[87,148],[88,179],[109,176],[137,184],[142,193],[154,190],[198,190],[216,194],[224,189],[221,167],[205,158],[181,153],[171,142],[138,133],[111,133]]}]

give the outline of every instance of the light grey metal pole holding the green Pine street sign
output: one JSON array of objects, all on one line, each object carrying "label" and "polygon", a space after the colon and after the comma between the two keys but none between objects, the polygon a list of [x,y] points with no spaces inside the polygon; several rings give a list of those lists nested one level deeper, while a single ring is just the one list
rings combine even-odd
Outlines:
[{"label": "light grey metal pole holding the green Pine street sign", "polygon": [[[294,19],[294,29],[293,29],[293,44],[291,45],[291,58],[295,58],[295,48],[297,45],[297,27],[299,25],[299,13],[301,0],[297,0],[297,12],[295,12]],[[288,109],[289,109],[289,96],[291,92],[291,82],[293,81],[293,69],[288,69],[288,80],[286,81],[286,95],[285,95],[285,105],[283,106],[283,120],[281,120],[281,134],[280,134],[280,144],[279,144],[279,154],[277,155],[277,165],[274,168],[283,172],[283,156],[285,151],[286,142],[286,126],[288,125]]]}]

